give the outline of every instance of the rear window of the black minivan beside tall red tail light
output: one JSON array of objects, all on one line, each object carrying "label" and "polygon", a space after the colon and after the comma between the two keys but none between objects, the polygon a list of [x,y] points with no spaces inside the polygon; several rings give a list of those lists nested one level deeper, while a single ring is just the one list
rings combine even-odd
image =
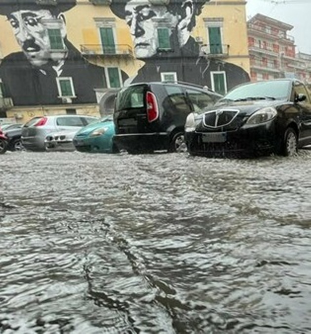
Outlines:
[{"label": "rear window of the black minivan beside tall red tail light", "polygon": [[132,86],[122,89],[116,98],[115,110],[144,107],[145,86]]}]

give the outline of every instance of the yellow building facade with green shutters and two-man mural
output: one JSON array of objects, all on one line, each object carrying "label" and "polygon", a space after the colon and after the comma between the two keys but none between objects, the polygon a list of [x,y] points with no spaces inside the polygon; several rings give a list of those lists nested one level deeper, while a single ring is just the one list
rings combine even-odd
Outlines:
[{"label": "yellow building facade with green shutters and two-man mural", "polygon": [[140,81],[249,81],[243,0],[0,0],[0,117],[100,115]]}]

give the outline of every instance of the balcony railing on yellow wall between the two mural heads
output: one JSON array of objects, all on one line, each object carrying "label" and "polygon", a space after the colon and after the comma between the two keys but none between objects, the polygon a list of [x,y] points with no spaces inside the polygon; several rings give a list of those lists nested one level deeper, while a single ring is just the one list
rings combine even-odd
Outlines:
[{"label": "balcony railing on yellow wall between the two mural heads", "polygon": [[83,55],[100,55],[100,56],[129,56],[133,55],[132,48],[127,44],[116,44],[103,46],[101,44],[82,44],[80,45]]}]

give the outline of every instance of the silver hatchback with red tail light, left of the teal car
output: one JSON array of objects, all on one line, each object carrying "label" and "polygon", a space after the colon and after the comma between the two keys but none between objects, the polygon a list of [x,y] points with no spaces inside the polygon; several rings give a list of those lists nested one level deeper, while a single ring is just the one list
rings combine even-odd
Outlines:
[{"label": "silver hatchback with red tail light, left of the teal car", "polygon": [[57,115],[34,117],[22,127],[22,144],[26,150],[45,151],[45,139],[55,132],[74,132],[98,121],[98,118],[85,115]]}]

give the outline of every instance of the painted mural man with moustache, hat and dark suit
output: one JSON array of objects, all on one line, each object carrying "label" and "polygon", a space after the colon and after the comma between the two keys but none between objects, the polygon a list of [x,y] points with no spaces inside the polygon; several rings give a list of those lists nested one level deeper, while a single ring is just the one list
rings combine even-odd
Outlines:
[{"label": "painted mural man with moustache, hat and dark suit", "polygon": [[104,68],[86,61],[67,39],[63,12],[76,2],[51,1],[55,4],[0,1],[0,14],[7,16],[22,49],[0,64],[6,94],[17,106],[61,104],[61,91],[72,97],[73,104],[96,103],[94,89],[107,87]]}]

